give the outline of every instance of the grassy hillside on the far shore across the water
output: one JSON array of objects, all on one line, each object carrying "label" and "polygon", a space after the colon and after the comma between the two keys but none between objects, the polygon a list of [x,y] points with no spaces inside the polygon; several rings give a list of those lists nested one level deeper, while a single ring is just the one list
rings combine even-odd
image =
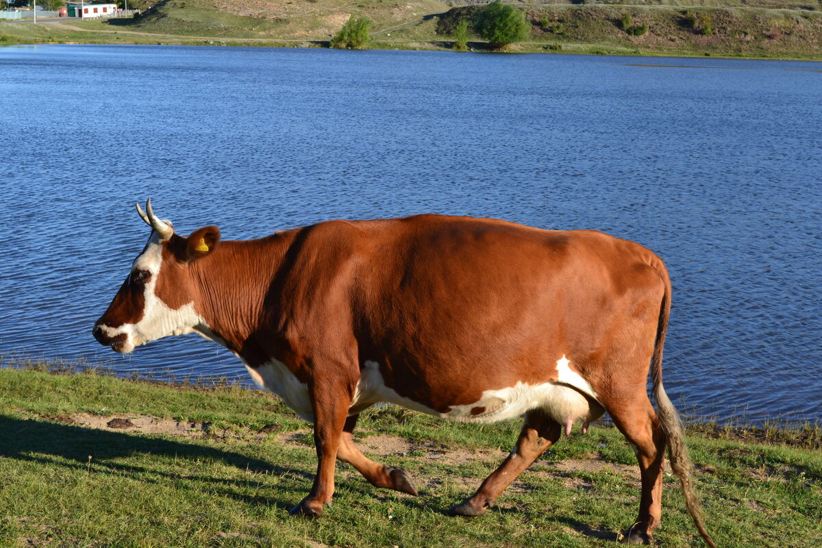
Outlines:
[{"label": "grassy hillside on the far shore across the water", "polygon": [[[373,48],[447,49],[477,2],[161,0],[110,21],[0,22],[0,44],[225,44],[326,47],[349,16],[374,22]],[[531,37],[512,51],[822,59],[820,0],[513,2]],[[471,4],[471,5],[463,5]],[[623,29],[630,16],[633,25]],[[641,35],[630,29],[646,25]],[[476,35],[473,49],[487,48]]]}]

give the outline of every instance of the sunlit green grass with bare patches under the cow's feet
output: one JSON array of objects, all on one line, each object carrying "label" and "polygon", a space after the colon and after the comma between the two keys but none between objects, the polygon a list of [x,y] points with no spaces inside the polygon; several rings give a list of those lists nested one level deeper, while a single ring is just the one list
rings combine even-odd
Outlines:
[{"label": "sunlit green grass with bare patches under the cow's feet", "polygon": [[[635,457],[612,428],[563,437],[492,512],[450,518],[510,449],[519,425],[363,413],[358,443],[406,467],[418,497],[339,465],[333,508],[287,510],[311,486],[308,425],[233,387],[0,370],[0,546],[612,546],[638,505]],[[817,449],[689,438],[719,546],[822,546]],[[666,478],[663,546],[701,546]]]}]

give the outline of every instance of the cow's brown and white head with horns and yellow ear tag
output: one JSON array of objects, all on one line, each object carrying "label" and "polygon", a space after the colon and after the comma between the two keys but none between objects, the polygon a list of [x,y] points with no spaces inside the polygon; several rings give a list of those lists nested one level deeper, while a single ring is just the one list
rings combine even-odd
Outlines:
[{"label": "cow's brown and white head with horns and yellow ear tag", "polygon": [[219,228],[198,228],[181,237],[172,223],[157,218],[150,199],[145,210],[137,204],[137,212],[151,227],[149,242],[92,330],[100,344],[116,352],[132,352],[156,338],[208,327],[196,310],[198,276],[192,275],[192,267],[215,251]]}]

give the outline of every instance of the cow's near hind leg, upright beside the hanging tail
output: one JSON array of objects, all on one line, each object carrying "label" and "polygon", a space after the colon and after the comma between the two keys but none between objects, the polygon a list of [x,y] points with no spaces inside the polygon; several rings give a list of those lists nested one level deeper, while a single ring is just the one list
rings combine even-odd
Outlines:
[{"label": "cow's near hind leg, upright beside the hanging tail", "polygon": [[606,404],[614,424],[634,447],[640,463],[640,513],[624,537],[629,544],[649,544],[662,517],[663,458],[667,439],[648,399],[641,397]]}]

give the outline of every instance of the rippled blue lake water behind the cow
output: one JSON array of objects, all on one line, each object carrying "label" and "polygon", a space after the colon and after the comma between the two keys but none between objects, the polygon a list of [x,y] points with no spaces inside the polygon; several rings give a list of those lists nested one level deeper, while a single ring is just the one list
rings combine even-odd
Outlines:
[{"label": "rippled blue lake water behind the cow", "polygon": [[194,335],[90,336],[148,237],[420,212],[596,228],[674,284],[668,393],[820,421],[822,63],[163,46],[0,48],[0,354],[224,375]]}]

